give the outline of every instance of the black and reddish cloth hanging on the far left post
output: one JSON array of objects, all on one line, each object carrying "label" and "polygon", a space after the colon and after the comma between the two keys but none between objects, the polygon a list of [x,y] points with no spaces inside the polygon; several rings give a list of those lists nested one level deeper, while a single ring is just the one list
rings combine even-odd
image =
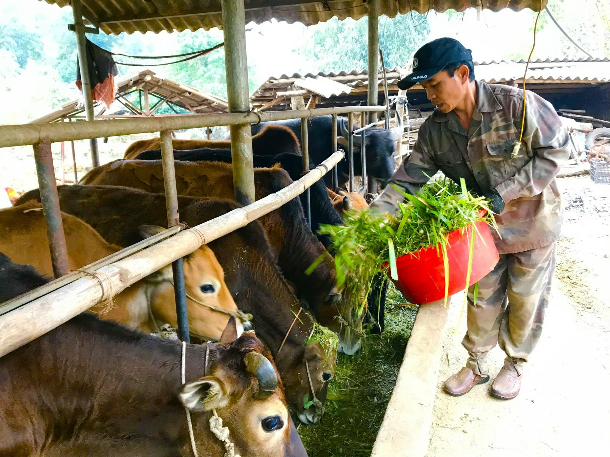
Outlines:
[{"label": "black and reddish cloth hanging on the far left post", "polygon": [[[93,100],[104,102],[110,107],[117,93],[114,77],[118,75],[117,64],[110,52],[102,49],[85,38],[87,52],[87,68],[91,81],[91,96]],[[76,87],[82,91],[81,66],[76,60]]]}]

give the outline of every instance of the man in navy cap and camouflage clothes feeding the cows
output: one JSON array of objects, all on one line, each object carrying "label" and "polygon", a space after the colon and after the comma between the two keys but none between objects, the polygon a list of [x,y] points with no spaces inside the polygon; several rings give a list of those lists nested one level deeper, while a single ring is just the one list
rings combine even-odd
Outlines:
[{"label": "man in navy cap and camouflage clothes feeding the cows", "polygon": [[491,394],[512,399],[540,338],[550,296],[561,228],[555,177],[569,158],[569,138],[541,97],[525,91],[524,99],[518,88],[475,80],[470,49],[452,38],[415,52],[413,73],[398,87],[415,83],[425,88],[436,110],[420,127],[411,156],[370,206],[394,213],[404,199],[392,185],[415,194],[439,169],[456,182],[464,178],[470,191],[489,199],[500,261],[479,282],[476,304],[474,288],[468,290],[462,345],[469,357],[445,381],[445,391],[463,395],[489,381],[487,354],[498,343],[506,359]]}]

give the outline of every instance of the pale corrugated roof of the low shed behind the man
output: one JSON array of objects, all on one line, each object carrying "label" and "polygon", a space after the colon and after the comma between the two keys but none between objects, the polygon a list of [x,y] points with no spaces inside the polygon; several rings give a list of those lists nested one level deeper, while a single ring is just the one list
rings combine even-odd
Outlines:
[{"label": "pale corrugated roof of the low shed behind the man", "polygon": [[[525,71],[525,60],[519,61],[494,61],[475,63],[476,79],[489,83],[501,82],[523,82]],[[397,93],[397,82],[400,74],[406,73],[400,68],[386,68],[386,76],[390,93]],[[253,107],[261,107],[272,101],[277,92],[289,90],[295,80],[301,77],[323,76],[331,80],[343,83],[353,88],[350,96],[359,97],[367,91],[368,71],[340,71],[317,74],[307,73],[301,76],[298,73],[288,76],[282,74],[280,77],[270,77],[250,97]],[[610,58],[580,58],[578,60],[564,59],[542,59],[530,62],[526,83],[610,83]],[[381,74],[378,80],[379,92],[382,93]],[[415,85],[411,90],[423,90],[420,85]],[[348,97],[346,95],[343,96]],[[275,109],[281,109],[284,103],[274,104]]]}]

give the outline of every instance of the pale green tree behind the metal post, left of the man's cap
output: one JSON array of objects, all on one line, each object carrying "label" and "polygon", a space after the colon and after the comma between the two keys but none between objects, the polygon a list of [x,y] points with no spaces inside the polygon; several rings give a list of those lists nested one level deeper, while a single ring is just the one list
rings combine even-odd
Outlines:
[{"label": "pale green tree behind the metal post, left of the man's cap", "polygon": [[[406,66],[413,53],[428,37],[430,27],[417,13],[379,18],[379,47],[386,66]],[[368,18],[358,21],[333,18],[309,27],[306,46],[295,49],[306,64],[302,71],[350,71],[368,66]],[[309,43],[309,45],[307,44]]]}]

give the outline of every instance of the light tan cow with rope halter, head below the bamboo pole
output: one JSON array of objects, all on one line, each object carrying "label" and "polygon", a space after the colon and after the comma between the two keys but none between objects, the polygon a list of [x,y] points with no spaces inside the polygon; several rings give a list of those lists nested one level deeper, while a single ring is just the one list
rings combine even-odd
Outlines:
[{"label": "light tan cow with rope halter, head below the bamboo pole", "polygon": [[[117,252],[119,246],[107,243],[93,227],[70,214],[62,214],[71,270],[77,270]],[[162,231],[154,225],[140,226],[147,238]],[[46,222],[38,202],[0,210],[0,252],[16,263],[31,264],[52,277],[51,255],[46,236]],[[185,258],[184,279],[187,293],[210,306],[237,311],[231,292],[224,283],[223,269],[214,253],[202,246]],[[113,297],[112,306],[93,306],[91,312],[103,319],[150,333],[167,324],[176,327],[176,305],[171,265],[138,281]],[[210,310],[187,299],[190,333],[201,339],[218,339],[229,320],[227,314]],[[240,324],[241,325],[241,324]],[[242,329],[243,330],[243,329]]]}]

